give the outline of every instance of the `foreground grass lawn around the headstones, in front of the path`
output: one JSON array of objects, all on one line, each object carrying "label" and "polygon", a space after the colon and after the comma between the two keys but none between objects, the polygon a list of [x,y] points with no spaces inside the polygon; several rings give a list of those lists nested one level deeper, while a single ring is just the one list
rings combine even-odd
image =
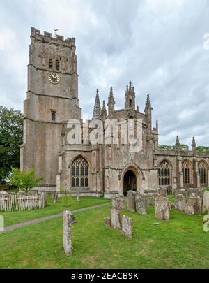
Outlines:
[{"label": "foreground grass lawn around the headstones, in front of the path", "polygon": [[151,205],[148,215],[123,210],[133,219],[134,237],[127,238],[104,226],[110,207],[75,213],[70,256],[63,252],[61,217],[1,233],[0,268],[208,268],[203,215],[171,210],[163,221]]}]

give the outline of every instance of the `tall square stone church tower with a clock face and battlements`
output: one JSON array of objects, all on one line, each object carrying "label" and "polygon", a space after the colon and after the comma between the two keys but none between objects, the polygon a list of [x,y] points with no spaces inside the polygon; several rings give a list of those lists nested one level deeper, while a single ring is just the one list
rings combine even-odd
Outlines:
[{"label": "tall square stone church tower with a clock face and battlements", "polygon": [[20,168],[35,168],[42,187],[56,187],[63,124],[81,118],[75,49],[75,38],[31,28]]}]

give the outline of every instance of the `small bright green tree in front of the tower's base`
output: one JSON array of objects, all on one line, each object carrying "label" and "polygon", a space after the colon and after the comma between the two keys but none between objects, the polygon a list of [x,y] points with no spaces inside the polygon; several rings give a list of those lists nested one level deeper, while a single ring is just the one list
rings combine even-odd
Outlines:
[{"label": "small bright green tree in front of the tower's base", "polygon": [[10,184],[23,191],[28,191],[37,187],[43,180],[43,177],[36,177],[36,170],[20,171],[18,168],[12,168],[12,173],[8,176]]}]

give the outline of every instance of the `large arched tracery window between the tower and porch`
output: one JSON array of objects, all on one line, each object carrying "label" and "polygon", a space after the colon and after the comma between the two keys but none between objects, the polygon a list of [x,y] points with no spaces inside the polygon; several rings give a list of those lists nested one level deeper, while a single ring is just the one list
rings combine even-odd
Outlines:
[{"label": "large arched tracery window between the tower and porch", "polygon": [[83,157],[77,157],[72,162],[71,186],[88,187],[88,162]]}]

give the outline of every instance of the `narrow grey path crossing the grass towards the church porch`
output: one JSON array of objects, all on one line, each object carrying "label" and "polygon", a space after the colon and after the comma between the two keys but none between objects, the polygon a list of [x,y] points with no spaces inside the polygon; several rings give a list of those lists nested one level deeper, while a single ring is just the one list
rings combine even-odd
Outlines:
[{"label": "narrow grey path crossing the grass towards the church porch", "polygon": [[[85,211],[85,210],[92,210],[93,208],[101,208],[102,206],[109,205],[109,204],[111,204],[111,203],[102,203],[100,205],[89,206],[88,208],[79,208],[77,210],[72,210],[72,213]],[[59,213],[59,214],[56,214],[56,215],[49,215],[49,216],[29,220],[29,221],[26,221],[26,222],[21,222],[21,223],[9,225],[9,226],[4,227],[4,232],[13,230],[15,228],[27,226],[29,224],[34,224],[34,223],[42,222],[42,221],[45,221],[45,220],[53,219],[53,218],[56,218],[56,217],[61,217],[61,216],[63,216],[63,213]]]}]

